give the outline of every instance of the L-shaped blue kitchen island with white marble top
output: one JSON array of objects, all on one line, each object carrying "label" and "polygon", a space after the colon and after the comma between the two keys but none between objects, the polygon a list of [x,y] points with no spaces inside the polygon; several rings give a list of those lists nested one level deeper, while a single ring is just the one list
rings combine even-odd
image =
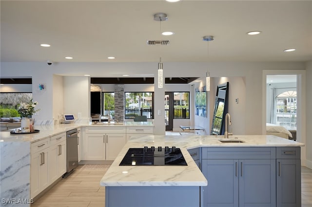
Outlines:
[{"label": "L-shaped blue kitchen island with white marble top", "polygon": [[[143,148],[144,146],[155,146],[156,148],[157,146],[175,146],[176,148],[180,148],[188,166],[119,166],[119,163],[129,148]],[[291,161],[295,160],[295,176],[290,176],[292,177],[291,179],[293,179],[290,183],[293,184],[293,189],[291,190],[295,192],[295,198],[293,199],[294,201],[291,202],[294,202],[292,206],[299,207],[301,204],[300,147],[302,146],[304,146],[304,144],[292,140],[262,135],[233,136],[233,138],[226,140],[223,136],[196,135],[131,138],[100,181],[100,185],[105,186],[106,190],[105,206],[238,206],[239,199],[240,202],[245,202],[245,206],[279,206],[277,204],[286,203],[284,201],[284,188],[287,188],[287,184],[281,182],[285,181],[285,177],[283,176],[289,175],[287,172],[281,173],[280,169],[284,167],[287,168],[288,165],[290,165],[292,169],[294,166],[288,162],[286,162],[288,164],[283,164],[285,160],[289,161],[287,157],[289,155],[289,157],[292,158]],[[197,167],[191,155],[188,153],[188,150],[196,148],[199,148],[200,152],[203,152],[202,156],[206,156],[202,157],[202,162],[206,164],[206,166],[202,167],[203,172]],[[232,157],[232,159],[229,159],[229,156]],[[228,165],[228,163],[220,165],[220,162],[224,160],[230,162],[231,165]],[[211,164],[213,162],[214,164]],[[242,163],[240,165],[241,170],[238,169],[238,163]],[[211,166],[218,166],[218,168],[211,168]],[[226,168],[224,168],[225,166]],[[227,168],[227,166],[230,167]],[[219,169],[218,172],[211,173],[216,176],[220,174],[220,182],[222,182],[223,179],[221,176],[222,174],[226,174],[226,177],[230,177],[231,182],[233,181],[233,186],[223,186],[223,188],[225,187],[230,190],[224,190],[222,186],[216,187],[223,190],[221,190],[221,192],[223,192],[223,194],[221,193],[221,197],[227,198],[229,195],[231,199],[229,203],[210,203],[210,201],[207,200],[207,197],[209,198],[212,195],[210,194],[212,189],[209,189],[209,187],[215,187],[214,178],[210,180],[209,173],[204,172],[205,170],[207,171],[207,168]],[[276,168],[278,170],[276,170]],[[227,171],[222,172],[221,169],[226,169]],[[231,169],[231,171],[228,171],[229,169]],[[260,171],[262,174],[256,173],[258,169],[264,169]],[[256,181],[257,178],[259,178],[258,180],[260,180],[260,182],[256,183],[263,183],[258,190],[267,190],[263,198],[259,196],[261,193],[263,194],[263,191],[257,194],[257,186],[254,187],[250,184],[253,190],[249,190],[249,186],[245,185],[247,182],[243,182],[244,179],[250,179],[250,177],[246,177],[249,175],[248,171],[254,173],[254,177],[251,176],[251,180]],[[291,170],[290,172],[293,171]],[[238,176],[240,173],[241,176]],[[207,177],[208,179],[206,179]],[[240,180],[238,180],[239,177]],[[261,179],[263,179],[263,182]],[[275,182],[277,183],[276,185]],[[238,192],[238,184],[240,188],[245,189],[245,191],[241,190],[241,192]],[[284,186],[284,188],[280,189],[279,186]],[[237,190],[235,190],[236,187]],[[213,191],[219,192],[219,189],[213,189]],[[187,192],[188,190],[189,192]],[[207,190],[209,192],[207,192]],[[248,190],[251,191],[250,194],[248,194]],[[177,194],[179,195],[177,195],[176,192],[178,192]],[[233,193],[233,195],[230,193]],[[213,197],[220,197],[220,194]],[[256,201],[253,200],[254,198],[256,198]],[[188,201],[186,200],[188,199],[191,200],[189,201],[190,203],[187,203]],[[180,200],[182,202],[180,202]]]}]

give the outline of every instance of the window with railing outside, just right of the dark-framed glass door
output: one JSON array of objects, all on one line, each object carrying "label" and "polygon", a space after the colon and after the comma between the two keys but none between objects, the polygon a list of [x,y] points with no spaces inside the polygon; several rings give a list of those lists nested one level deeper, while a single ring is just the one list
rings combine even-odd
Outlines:
[{"label": "window with railing outside, just right of the dark-framed glass door", "polygon": [[190,119],[189,97],[189,92],[174,92],[174,119]]}]

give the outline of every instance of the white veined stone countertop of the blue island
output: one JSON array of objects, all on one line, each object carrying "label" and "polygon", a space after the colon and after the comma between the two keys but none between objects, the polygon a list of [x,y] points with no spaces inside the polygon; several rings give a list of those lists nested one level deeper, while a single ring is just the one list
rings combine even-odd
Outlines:
[{"label": "white veined stone countertop of the blue island", "polygon": [[[197,147],[301,147],[304,144],[266,135],[232,136],[242,143],[222,143],[223,136],[145,136],[131,138],[123,147],[111,167],[100,181],[101,186],[206,186],[207,180],[201,173],[188,149]],[[176,146],[188,166],[119,166],[129,148],[144,146]]]}]

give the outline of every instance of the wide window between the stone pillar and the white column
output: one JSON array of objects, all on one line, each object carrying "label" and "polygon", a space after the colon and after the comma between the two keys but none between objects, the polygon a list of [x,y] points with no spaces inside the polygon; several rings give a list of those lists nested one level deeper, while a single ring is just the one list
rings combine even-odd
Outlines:
[{"label": "wide window between the stone pillar and the white column", "polygon": [[154,92],[125,92],[125,119],[147,116],[153,119]]}]

